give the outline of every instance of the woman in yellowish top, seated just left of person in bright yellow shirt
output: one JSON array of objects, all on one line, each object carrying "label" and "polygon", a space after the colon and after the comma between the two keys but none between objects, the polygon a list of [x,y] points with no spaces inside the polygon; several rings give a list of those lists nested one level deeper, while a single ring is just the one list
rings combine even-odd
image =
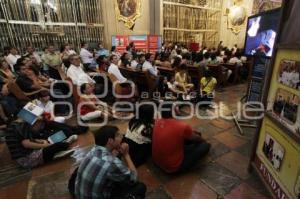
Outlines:
[{"label": "woman in yellowish top, seated just left of person in bright yellow shirt", "polygon": [[181,64],[178,68],[178,72],[175,74],[175,81],[178,83],[178,87],[181,91],[188,94],[193,88],[194,84],[189,83],[190,77],[187,74],[187,66]]}]

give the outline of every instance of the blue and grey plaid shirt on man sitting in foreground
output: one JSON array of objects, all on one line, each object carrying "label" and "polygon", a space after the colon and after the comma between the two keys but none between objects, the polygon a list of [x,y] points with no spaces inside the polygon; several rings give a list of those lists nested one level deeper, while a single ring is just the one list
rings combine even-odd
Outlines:
[{"label": "blue and grey plaid shirt on man sitting in foreground", "polygon": [[110,198],[117,184],[137,181],[137,174],[105,147],[95,146],[79,166],[75,183],[77,199]]}]

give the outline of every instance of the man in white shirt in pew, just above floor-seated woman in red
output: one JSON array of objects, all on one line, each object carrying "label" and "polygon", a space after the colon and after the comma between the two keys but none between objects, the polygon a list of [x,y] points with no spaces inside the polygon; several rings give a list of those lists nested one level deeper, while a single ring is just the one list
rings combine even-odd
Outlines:
[{"label": "man in white shirt in pew, just above floor-seated woman in red", "polygon": [[83,83],[95,84],[95,81],[82,70],[78,55],[71,55],[70,62],[71,65],[67,71],[67,76],[72,79],[73,84],[77,86],[80,86]]}]

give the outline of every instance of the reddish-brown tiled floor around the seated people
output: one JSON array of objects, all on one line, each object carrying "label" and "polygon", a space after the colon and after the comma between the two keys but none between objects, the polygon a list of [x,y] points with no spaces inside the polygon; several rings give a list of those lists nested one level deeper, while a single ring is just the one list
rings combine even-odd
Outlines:
[{"label": "reddish-brown tiled floor around the seated people", "polygon": [[[212,110],[212,115],[221,113],[231,116],[231,112],[238,108],[236,102],[245,92],[245,85],[228,87],[217,92],[216,102],[220,111],[217,113]],[[200,160],[190,172],[180,175],[166,174],[148,160],[138,168],[140,180],[148,187],[147,198],[270,198],[258,177],[247,172],[253,129],[244,129],[245,135],[240,136],[232,120],[220,117],[213,120],[199,120],[194,117],[186,122],[201,131],[212,144],[209,155]],[[112,124],[117,125],[123,132],[127,127],[126,121],[113,121]],[[81,135],[73,146],[89,146],[93,143],[92,140],[92,132],[89,132]],[[80,159],[82,154],[84,153],[76,152],[74,157]],[[11,162],[4,144],[0,144],[0,161],[1,164]],[[67,191],[67,182],[75,162],[73,158],[65,158],[34,169],[31,177],[1,187],[0,198],[71,198]]]}]

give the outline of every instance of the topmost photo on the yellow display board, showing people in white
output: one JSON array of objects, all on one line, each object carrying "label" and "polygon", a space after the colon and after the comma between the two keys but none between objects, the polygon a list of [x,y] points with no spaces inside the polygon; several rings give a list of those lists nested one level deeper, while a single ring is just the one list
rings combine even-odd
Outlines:
[{"label": "topmost photo on the yellow display board, showing people in white", "polygon": [[300,90],[300,61],[280,61],[278,81],[290,88]]}]

